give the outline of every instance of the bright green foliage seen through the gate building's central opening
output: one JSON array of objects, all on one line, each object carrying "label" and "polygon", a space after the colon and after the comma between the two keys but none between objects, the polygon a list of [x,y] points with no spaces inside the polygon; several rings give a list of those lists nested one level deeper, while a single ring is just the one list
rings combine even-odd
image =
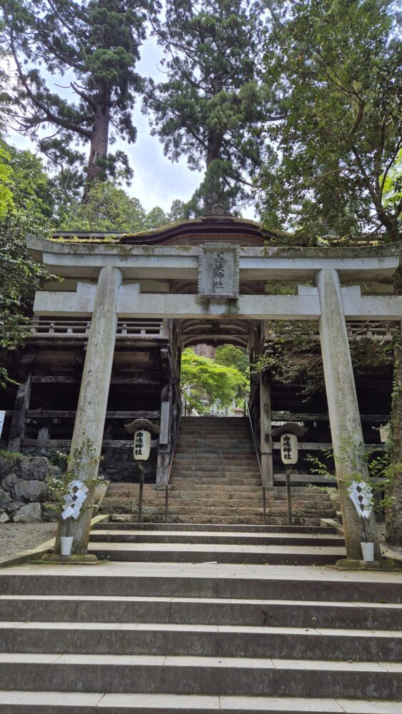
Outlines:
[{"label": "bright green foliage seen through the gate building's central opening", "polygon": [[205,411],[203,400],[220,401],[228,406],[246,387],[246,378],[235,367],[218,364],[208,357],[199,357],[187,348],[181,356],[181,391],[190,408]]}]

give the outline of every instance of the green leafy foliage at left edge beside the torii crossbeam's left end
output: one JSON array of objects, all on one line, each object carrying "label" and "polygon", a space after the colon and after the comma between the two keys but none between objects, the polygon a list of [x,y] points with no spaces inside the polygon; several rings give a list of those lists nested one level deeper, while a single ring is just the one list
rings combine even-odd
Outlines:
[{"label": "green leafy foliage at left edge beside the torii crossbeam's left end", "polygon": [[[24,340],[26,315],[41,278],[49,277],[25,246],[27,233],[46,237],[51,227],[49,181],[39,159],[0,141],[0,347]],[[6,354],[4,355],[6,358]],[[9,379],[0,363],[0,386]]]}]

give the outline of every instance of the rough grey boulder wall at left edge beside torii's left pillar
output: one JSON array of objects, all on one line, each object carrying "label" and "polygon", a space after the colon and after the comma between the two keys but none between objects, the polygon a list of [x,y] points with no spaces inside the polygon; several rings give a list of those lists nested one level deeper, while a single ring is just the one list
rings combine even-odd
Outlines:
[{"label": "rough grey boulder wall at left edge beside torii's left pillar", "polygon": [[0,523],[41,521],[48,481],[59,473],[43,456],[0,452]]}]

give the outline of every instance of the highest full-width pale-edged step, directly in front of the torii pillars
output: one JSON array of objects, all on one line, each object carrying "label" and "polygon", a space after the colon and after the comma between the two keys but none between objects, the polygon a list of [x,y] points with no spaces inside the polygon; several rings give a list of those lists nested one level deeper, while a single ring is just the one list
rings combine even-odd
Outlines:
[{"label": "highest full-width pale-edged step, directly in front of the torii pillars", "polygon": [[400,573],[345,574],[329,568],[301,566],[294,570],[271,565],[256,568],[245,565],[216,568],[206,564],[177,568],[174,563],[163,568],[159,563],[22,566],[0,570],[0,593],[366,602],[378,603],[380,610],[384,603],[402,603]]}]

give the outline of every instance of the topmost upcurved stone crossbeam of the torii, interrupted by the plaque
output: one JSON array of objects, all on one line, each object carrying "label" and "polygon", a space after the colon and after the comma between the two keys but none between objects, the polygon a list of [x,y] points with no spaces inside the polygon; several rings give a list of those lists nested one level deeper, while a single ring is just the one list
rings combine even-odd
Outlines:
[{"label": "topmost upcurved stone crossbeam of the torii, interrupted by the plaque", "polygon": [[[197,280],[199,248],[79,243],[28,236],[36,261],[54,275],[94,278],[104,266],[120,268],[125,279]],[[402,246],[373,248],[238,248],[241,281],[312,280],[322,268],[334,268],[341,280],[356,283],[386,278],[401,262]]]}]

